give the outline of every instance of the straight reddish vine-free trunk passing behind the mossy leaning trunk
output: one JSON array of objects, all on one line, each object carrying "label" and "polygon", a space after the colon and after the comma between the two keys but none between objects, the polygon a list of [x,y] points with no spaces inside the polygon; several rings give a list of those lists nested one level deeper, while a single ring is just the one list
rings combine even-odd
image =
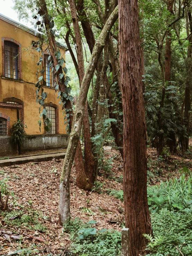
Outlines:
[{"label": "straight reddish vine-free trunk passing behind the mossy leaning trunk", "polygon": [[[76,38],[77,60],[78,60],[78,67],[79,67],[79,82],[80,82],[80,86],[81,86],[83,77],[85,75],[81,35],[80,35],[80,29],[79,29],[78,18],[77,18],[74,0],[69,0],[69,5],[70,5],[70,10],[71,10],[71,17],[72,17],[72,21],[73,21],[75,38]],[[86,180],[87,182],[80,185],[80,180],[79,181],[77,180],[77,184],[80,185],[81,189],[87,189],[87,183],[89,183],[89,187],[90,187],[89,189],[91,189],[91,187],[93,185],[92,173],[93,173],[93,169],[94,169],[95,159],[94,159],[94,155],[91,151],[91,139],[90,139],[90,127],[89,127],[89,115],[88,115],[87,100],[86,100],[85,112],[84,112],[84,144],[85,144],[84,169],[85,169],[85,174],[86,174],[86,176],[84,177],[84,180]],[[80,174],[77,173],[77,179],[79,177],[82,178],[81,169],[77,169],[77,171],[81,172]]]}]

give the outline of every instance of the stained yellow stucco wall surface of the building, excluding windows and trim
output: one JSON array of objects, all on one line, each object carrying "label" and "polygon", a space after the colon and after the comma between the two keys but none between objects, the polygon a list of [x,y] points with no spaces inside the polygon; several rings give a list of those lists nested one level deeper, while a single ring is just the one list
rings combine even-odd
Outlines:
[{"label": "stained yellow stucco wall surface of the building, excluding windows and trim", "polygon": [[[31,135],[44,134],[43,126],[40,132],[37,123],[40,116],[40,105],[36,103],[35,83],[38,80],[36,77],[36,62],[39,59],[39,53],[37,51],[29,52],[26,50],[32,40],[37,41],[37,37],[0,19],[0,39],[1,37],[11,37],[15,39],[22,45],[21,48],[25,50],[22,50],[23,82],[5,79],[2,77],[2,49],[0,44],[0,102],[3,102],[3,99],[8,97],[16,97],[22,100],[24,102],[24,120],[27,125],[26,133]],[[60,49],[60,51],[63,58],[65,58],[65,51],[63,49]],[[59,134],[66,134],[66,126],[64,126],[64,117],[62,115],[61,106],[59,105],[59,99],[57,99],[57,93],[55,94],[54,89],[47,87],[44,88],[44,92],[47,92],[45,102],[52,102],[59,106]],[[5,109],[7,112],[3,111],[3,108],[0,108],[0,112],[5,114],[9,113],[7,115],[10,117],[11,122],[12,120],[16,120],[17,111],[15,109]]]}]

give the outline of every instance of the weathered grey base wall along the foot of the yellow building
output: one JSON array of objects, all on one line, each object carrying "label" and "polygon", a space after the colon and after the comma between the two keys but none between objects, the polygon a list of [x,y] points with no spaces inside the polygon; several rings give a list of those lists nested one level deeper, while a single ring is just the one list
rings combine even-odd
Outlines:
[{"label": "weathered grey base wall along the foot of the yellow building", "polygon": [[[67,147],[68,138],[66,134],[27,135],[22,152]],[[9,140],[10,136],[0,136],[0,157],[17,155]]]}]

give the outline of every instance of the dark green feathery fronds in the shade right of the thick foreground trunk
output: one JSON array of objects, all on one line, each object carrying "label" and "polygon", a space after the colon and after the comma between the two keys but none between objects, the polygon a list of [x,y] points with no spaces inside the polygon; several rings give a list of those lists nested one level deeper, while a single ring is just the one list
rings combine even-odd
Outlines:
[{"label": "dark green feathery fronds in the shade right of the thick foreground trunk", "polygon": [[[159,138],[164,137],[168,142],[171,133],[185,136],[186,131],[181,125],[181,111],[178,109],[177,90],[174,82],[165,83],[164,106],[160,107],[162,100],[162,83],[157,83],[151,75],[145,75],[145,114],[147,134],[151,141],[158,145]],[[159,119],[160,116],[160,119]],[[158,123],[161,120],[161,123]]]}]

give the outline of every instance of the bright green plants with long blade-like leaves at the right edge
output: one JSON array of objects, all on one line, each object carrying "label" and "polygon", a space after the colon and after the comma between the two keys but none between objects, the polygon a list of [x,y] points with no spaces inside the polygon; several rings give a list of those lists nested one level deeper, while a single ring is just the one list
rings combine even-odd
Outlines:
[{"label": "bright green plants with long blade-like leaves at the right edge", "polygon": [[[182,210],[192,207],[192,179],[185,178],[183,174],[179,179],[174,178],[166,182],[161,182],[159,186],[148,187],[148,205],[151,213],[155,213],[159,208],[168,210]],[[152,210],[154,209],[155,210]]]}]

